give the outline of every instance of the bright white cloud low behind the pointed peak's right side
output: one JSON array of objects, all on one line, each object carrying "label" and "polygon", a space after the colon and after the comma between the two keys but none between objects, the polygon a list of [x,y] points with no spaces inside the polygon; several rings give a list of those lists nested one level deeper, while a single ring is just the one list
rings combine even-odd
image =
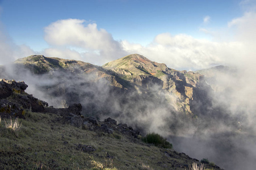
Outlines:
[{"label": "bright white cloud low behind the pointed peak's right side", "polygon": [[228,63],[237,56],[233,51],[241,48],[240,42],[212,42],[170,33],[157,35],[148,46],[127,41],[123,41],[123,45],[129,53],[140,53],[178,70],[197,70]]}]

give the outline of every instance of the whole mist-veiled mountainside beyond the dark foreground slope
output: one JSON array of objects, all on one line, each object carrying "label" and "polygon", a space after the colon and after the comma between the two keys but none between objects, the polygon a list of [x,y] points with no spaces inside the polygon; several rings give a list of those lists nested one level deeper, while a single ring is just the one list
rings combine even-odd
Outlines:
[{"label": "whole mist-veiled mountainside beyond the dark foreground slope", "polygon": [[230,112],[232,98],[224,105],[199,73],[170,69],[139,54],[103,66],[29,56],[0,66],[0,77],[26,82],[29,94],[54,108],[80,103],[84,117],[111,117],[142,135],[158,133],[177,151],[199,160],[209,158],[226,169],[254,160],[241,145],[246,144],[241,141],[246,126],[242,116]]}]

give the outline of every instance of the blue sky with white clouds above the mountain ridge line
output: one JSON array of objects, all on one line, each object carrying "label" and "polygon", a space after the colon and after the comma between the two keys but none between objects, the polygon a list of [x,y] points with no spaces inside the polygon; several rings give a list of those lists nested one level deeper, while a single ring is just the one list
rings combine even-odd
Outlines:
[{"label": "blue sky with white clouds above the mountain ridge line", "polygon": [[[221,52],[202,49],[202,46],[211,44],[216,48],[216,43],[237,43],[237,24],[241,22],[230,23],[239,18],[243,21],[249,19],[249,23],[255,21],[254,5],[254,0],[0,0],[0,31],[7,39],[2,43],[9,43],[10,49],[22,51],[8,57],[12,59],[44,54],[102,65],[129,53],[141,53],[177,69],[201,69],[229,62],[229,59],[220,59]],[[251,15],[246,18],[246,14]],[[89,28],[93,24],[95,27]],[[73,26],[68,29],[69,25]],[[77,30],[79,26],[81,29]],[[60,35],[60,32],[64,34]],[[81,36],[74,32],[81,33]],[[89,33],[95,37],[87,39]],[[164,42],[166,40],[169,42]],[[104,45],[96,45],[100,42],[106,42],[108,49]],[[168,51],[168,45],[171,51]],[[179,53],[183,48],[187,52]],[[196,52],[189,52],[195,48],[198,48]],[[233,48],[237,47],[232,46],[230,50]],[[213,56],[209,57],[210,54]],[[205,62],[202,55],[205,55]],[[2,58],[1,63],[5,63],[6,57]]]}]

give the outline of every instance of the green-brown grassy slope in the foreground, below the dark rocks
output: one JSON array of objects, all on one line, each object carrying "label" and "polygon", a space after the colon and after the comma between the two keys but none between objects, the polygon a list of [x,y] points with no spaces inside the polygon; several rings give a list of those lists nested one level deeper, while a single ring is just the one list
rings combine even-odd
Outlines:
[{"label": "green-brown grassy slope in the foreground, below the dark rocks", "polygon": [[[107,134],[61,124],[57,114],[27,112],[25,117],[19,120],[19,131],[6,129],[4,120],[0,123],[0,169],[184,169],[184,164],[192,164],[187,155],[116,131]],[[83,152],[78,144],[96,150]]]}]

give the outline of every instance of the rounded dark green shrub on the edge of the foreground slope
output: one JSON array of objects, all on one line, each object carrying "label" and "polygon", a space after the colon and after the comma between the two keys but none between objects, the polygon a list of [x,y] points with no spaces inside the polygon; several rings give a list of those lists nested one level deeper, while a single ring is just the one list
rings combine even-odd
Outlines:
[{"label": "rounded dark green shrub on the edge of the foreground slope", "polygon": [[166,141],[166,138],[163,138],[160,134],[157,133],[148,133],[146,137],[142,138],[142,141],[146,143],[153,143],[158,147],[173,148],[173,145]]}]

